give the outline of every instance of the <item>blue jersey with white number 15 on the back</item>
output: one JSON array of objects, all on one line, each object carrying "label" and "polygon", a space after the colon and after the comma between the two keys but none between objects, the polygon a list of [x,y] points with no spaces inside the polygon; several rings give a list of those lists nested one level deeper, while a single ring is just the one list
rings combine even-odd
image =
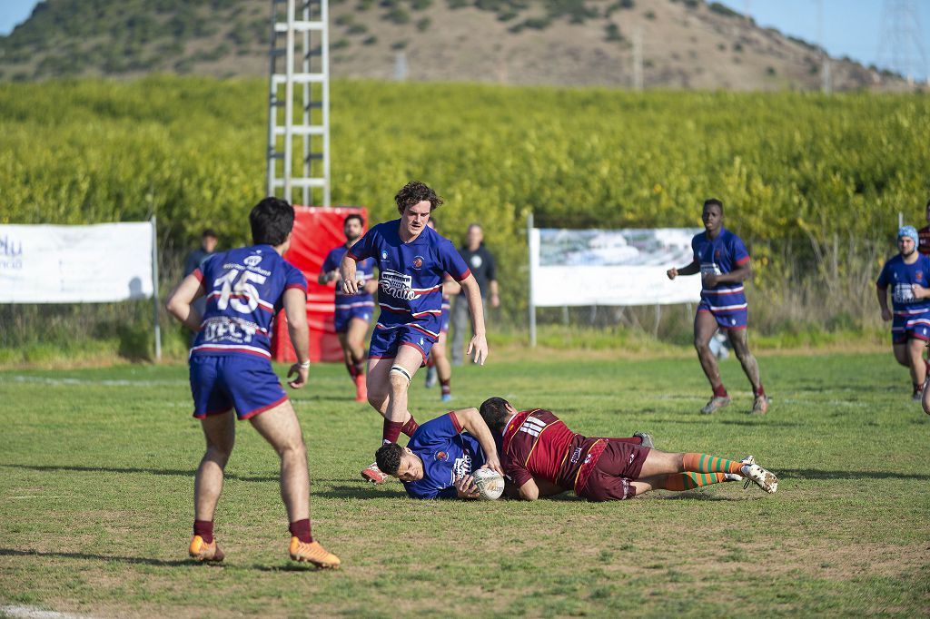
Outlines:
[{"label": "blue jersey with white number 15 on the back", "polygon": [[299,269],[271,245],[240,247],[210,257],[193,271],[206,294],[206,311],[192,355],[249,354],[271,359],[272,321],[285,291],[307,294]]}]

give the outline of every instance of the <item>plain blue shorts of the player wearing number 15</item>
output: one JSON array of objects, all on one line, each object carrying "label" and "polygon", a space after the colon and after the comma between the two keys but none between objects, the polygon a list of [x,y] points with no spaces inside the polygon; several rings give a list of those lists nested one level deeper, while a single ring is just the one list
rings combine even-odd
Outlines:
[{"label": "plain blue shorts of the player wearing number 15", "polygon": [[231,408],[248,419],[287,400],[271,362],[249,355],[191,357],[191,393],[198,419]]}]

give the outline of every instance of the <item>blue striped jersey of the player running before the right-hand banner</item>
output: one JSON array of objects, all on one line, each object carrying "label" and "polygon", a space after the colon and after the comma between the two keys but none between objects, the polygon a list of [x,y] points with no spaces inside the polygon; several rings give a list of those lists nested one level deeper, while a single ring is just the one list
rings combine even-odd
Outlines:
[{"label": "blue striped jersey of the player running before the right-hand banner", "polygon": [[[714,239],[701,232],[691,239],[691,249],[700,265],[701,278],[705,275],[730,273],[750,261],[746,245],[733,232],[721,229]],[[711,311],[746,310],[746,295],[742,283],[718,283],[712,288],[702,286],[701,300],[711,306]]]}]

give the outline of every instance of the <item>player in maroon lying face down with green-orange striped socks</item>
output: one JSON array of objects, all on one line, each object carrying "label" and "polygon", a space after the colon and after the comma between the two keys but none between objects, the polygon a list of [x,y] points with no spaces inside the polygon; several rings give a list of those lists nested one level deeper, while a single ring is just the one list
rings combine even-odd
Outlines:
[{"label": "player in maroon lying face down with green-orange striped socks", "polygon": [[481,416],[503,437],[500,460],[525,500],[573,490],[581,498],[609,501],[650,490],[691,490],[721,481],[754,481],[767,493],[777,477],[752,457],[727,460],[710,454],[671,454],[607,438],[576,434],[550,411],[518,412],[502,398],[489,398]]}]

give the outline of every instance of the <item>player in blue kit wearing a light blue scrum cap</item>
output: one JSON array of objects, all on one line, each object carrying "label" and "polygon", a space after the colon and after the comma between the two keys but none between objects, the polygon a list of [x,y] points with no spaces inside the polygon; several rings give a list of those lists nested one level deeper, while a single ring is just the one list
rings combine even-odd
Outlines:
[{"label": "player in blue kit wearing a light blue scrum cap", "polygon": [[[882,320],[892,321],[891,347],[895,359],[910,369],[913,399],[922,400],[926,367],[923,348],[930,340],[930,257],[917,251],[918,234],[913,226],[897,231],[898,255],[884,263],[875,283]],[[888,288],[891,303],[888,309]]]}]

